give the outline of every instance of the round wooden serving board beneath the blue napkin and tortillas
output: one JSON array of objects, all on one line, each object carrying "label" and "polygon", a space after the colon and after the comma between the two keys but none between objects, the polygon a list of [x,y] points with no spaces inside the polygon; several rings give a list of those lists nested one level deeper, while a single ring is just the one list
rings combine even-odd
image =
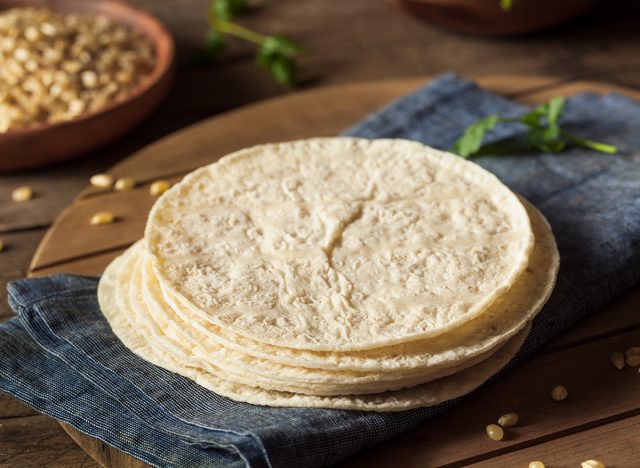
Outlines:
[{"label": "round wooden serving board beneath the blue napkin and tortillas", "polygon": [[[38,247],[29,274],[99,275],[109,261],[142,236],[147,213],[155,200],[148,192],[149,183],[154,179],[167,178],[176,182],[191,170],[224,154],[258,143],[335,135],[428,79],[402,78],[299,92],[221,114],[165,137],[109,171],[116,177],[135,178],[139,185],[134,190],[112,192],[88,186],[58,216]],[[587,81],[544,76],[481,76],[475,79],[480,85],[525,104],[538,104],[553,96],[570,96],[582,91],[616,91],[640,99],[637,90]],[[103,210],[115,213],[117,221],[106,226],[90,226],[91,216]],[[562,466],[562,463],[576,466],[581,461],[577,455],[579,447],[588,451],[594,443],[597,445],[597,442],[589,441],[599,437],[598,430],[605,424],[607,427],[620,426],[613,429],[622,431],[629,442],[634,438],[638,440],[638,376],[629,379],[623,373],[612,375],[608,356],[610,349],[640,345],[640,320],[634,313],[639,303],[640,290],[636,289],[609,308],[607,320],[597,316],[581,324],[545,353],[447,414],[357,455],[348,465],[459,466],[484,460],[487,466],[526,466],[529,458],[533,460],[546,453],[556,453],[558,465],[553,466]],[[598,387],[585,383],[585,373],[578,370],[590,361],[596,361],[598,365],[596,370],[590,369],[596,375],[590,375],[589,381],[610,382],[615,377],[615,385]],[[598,376],[598,373],[602,375]],[[549,389],[561,382],[576,394],[580,394],[582,388],[581,397],[574,397],[578,401],[573,405],[568,400],[568,404],[560,407],[548,397]],[[591,404],[587,404],[589,402]],[[523,423],[510,431],[506,441],[489,440],[484,435],[485,425],[508,411],[518,411]],[[99,463],[112,467],[145,466],[61,424]],[[569,434],[579,437],[574,440]],[[598,450],[606,450],[604,442],[600,444],[603,446]],[[610,457],[624,460],[621,457],[635,456],[635,462],[640,459],[638,452],[625,452],[624,447],[633,450],[632,444],[620,445],[619,449],[609,449]],[[528,450],[522,450],[531,446],[537,447],[537,451],[529,454]],[[536,457],[535,453],[540,456]],[[577,458],[574,460],[573,457]],[[592,453],[587,458],[594,457],[596,455]]]}]

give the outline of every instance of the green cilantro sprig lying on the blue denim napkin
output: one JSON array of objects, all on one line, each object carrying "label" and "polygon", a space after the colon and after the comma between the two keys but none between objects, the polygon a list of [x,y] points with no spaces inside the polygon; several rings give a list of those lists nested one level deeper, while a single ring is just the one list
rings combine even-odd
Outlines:
[{"label": "green cilantro sprig lying on the blue denim napkin", "polygon": [[522,117],[500,117],[492,114],[467,127],[451,151],[470,158],[483,148],[485,134],[499,123],[520,123],[527,127],[527,143],[545,153],[559,153],[567,145],[590,148],[601,153],[614,154],[618,148],[607,143],[588,140],[562,129],[558,121],[564,112],[565,99],[555,97]]}]

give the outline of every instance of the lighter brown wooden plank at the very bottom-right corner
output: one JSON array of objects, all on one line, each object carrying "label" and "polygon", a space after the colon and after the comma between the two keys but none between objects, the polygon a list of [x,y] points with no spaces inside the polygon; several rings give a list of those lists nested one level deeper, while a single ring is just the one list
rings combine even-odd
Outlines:
[{"label": "lighter brown wooden plank at the very bottom-right corner", "polygon": [[[619,443],[628,441],[629,443]],[[512,468],[540,460],[549,468],[575,468],[586,460],[598,460],[608,467],[640,464],[640,416],[605,424],[577,434],[543,442],[470,465],[475,468]]]}]

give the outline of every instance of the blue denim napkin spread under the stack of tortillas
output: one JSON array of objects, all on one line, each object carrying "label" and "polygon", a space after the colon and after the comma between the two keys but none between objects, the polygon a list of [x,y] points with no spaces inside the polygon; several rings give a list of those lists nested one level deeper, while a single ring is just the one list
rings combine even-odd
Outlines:
[{"label": "blue denim napkin spread under the stack of tortillas", "polygon": [[[409,138],[446,149],[478,118],[524,111],[444,75],[346,134]],[[549,303],[498,375],[640,277],[640,103],[581,94],[569,99],[564,124],[618,145],[622,154],[576,148],[477,159],[547,216],[562,257]],[[502,126],[490,140],[521,131]],[[456,403],[400,413],[238,403],[127,350],[100,313],[96,287],[95,278],[71,275],[9,286],[17,317],[0,325],[0,390],[152,465],[324,466]]]}]

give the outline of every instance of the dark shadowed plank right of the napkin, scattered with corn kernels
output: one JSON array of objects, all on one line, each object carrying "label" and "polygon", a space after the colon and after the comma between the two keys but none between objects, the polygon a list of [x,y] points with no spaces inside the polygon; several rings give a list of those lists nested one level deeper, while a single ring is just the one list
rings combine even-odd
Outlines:
[{"label": "dark shadowed plank right of the napkin, scattered with corn kernels", "polygon": [[[617,371],[613,351],[640,344],[640,330],[532,358],[447,413],[349,459],[343,466],[465,466],[540,442],[640,414],[637,368]],[[565,385],[556,402],[551,389]],[[492,441],[487,424],[516,412],[520,424]],[[602,441],[594,450],[606,445]],[[514,465],[515,466],[515,465]]]}]

